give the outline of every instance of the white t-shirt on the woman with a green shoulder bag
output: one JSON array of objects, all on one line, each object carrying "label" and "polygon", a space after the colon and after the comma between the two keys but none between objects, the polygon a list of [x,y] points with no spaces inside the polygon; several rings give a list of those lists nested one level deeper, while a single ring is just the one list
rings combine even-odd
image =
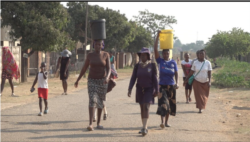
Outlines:
[{"label": "white t-shirt on the woman with a green shoulder bag", "polygon": [[[203,62],[200,62],[199,60],[194,61],[191,70],[194,71],[194,76],[199,72],[199,70],[202,67]],[[194,78],[195,80],[205,83],[208,82],[208,71],[212,70],[211,62],[208,60],[205,60],[205,63],[200,71],[200,73]]]}]

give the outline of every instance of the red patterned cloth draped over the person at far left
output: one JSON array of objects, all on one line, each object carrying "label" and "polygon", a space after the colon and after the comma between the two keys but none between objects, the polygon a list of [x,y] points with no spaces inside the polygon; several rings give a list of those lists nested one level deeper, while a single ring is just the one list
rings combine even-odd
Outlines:
[{"label": "red patterned cloth draped over the person at far left", "polygon": [[19,67],[8,46],[2,48],[2,65],[3,69],[6,70],[8,74],[11,74],[16,80],[20,78]]}]

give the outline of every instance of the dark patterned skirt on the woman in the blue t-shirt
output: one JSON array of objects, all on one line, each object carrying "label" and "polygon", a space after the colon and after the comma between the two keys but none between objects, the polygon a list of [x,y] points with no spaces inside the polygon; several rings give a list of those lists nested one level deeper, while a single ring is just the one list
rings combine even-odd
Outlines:
[{"label": "dark patterned skirt on the woman in the blue t-shirt", "polygon": [[158,98],[158,109],[156,114],[165,116],[167,113],[176,114],[176,90],[173,85],[160,86],[161,97]]}]

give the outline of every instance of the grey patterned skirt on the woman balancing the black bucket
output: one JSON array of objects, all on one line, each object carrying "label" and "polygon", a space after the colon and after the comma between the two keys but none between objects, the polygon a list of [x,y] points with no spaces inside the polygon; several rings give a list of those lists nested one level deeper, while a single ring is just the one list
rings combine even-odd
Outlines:
[{"label": "grey patterned skirt on the woman balancing the black bucket", "polygon": [[108,84],[104,79],[88,78],[89,107],[103,108],[103,101],[106,101]]}]

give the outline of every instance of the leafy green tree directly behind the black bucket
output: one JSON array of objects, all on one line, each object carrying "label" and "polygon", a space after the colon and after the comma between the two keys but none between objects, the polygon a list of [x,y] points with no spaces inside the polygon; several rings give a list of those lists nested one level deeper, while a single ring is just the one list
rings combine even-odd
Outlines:
[{"label": "leafy green tree directly behind the black bucket", "polygon": [[[85,13],[86,3],[85,2],[69,2],[68,12],[72,17],[75,27],[71,29],[71,36],[74,40],[85,41]],[[112,9],[104,9],[98,5],[88,5],[88,20],[105,19],[106,25],[106,39],[105,39],[105,50],[111,50],[115,48],[117,51],[121,51],[129,45],[134,37],[134,26],[131,22],[128,22],[124,14],[120,14],[119,11]],[[90,25],[90,24],[89,24]],[[88,26],[87,37],[91,38],[91,29]],[[91,40],[89,40],[89,43]]]}]

